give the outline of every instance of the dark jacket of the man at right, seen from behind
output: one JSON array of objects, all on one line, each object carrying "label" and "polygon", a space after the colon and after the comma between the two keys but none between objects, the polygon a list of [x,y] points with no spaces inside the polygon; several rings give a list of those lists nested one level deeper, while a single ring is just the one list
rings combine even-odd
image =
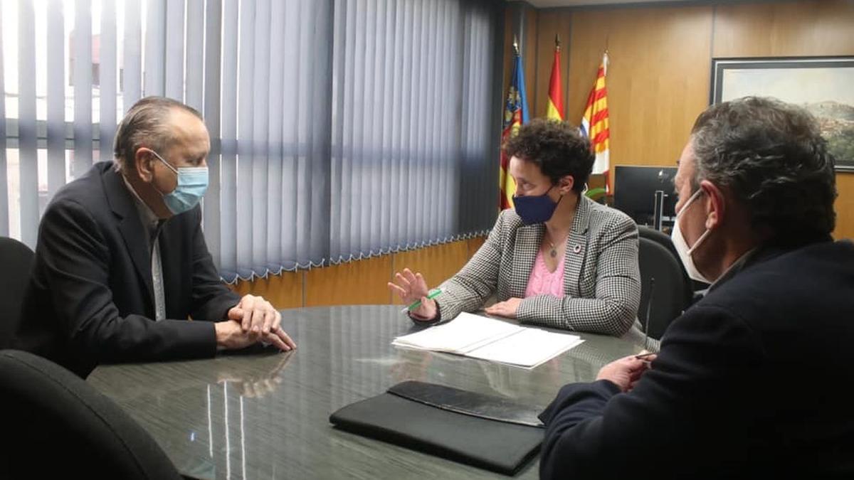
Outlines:
[{"label": "dark jacket of the man at right, seen from behind", "polygon": [[854,244],[766,249],[664,333],[628,394],[570,384],[541,477],[854,477]]}]

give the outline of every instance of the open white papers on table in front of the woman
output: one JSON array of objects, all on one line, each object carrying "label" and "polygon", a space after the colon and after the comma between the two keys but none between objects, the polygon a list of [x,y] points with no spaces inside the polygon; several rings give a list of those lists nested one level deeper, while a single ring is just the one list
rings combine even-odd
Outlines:
[{"label": "open white papers on table in front of the woman", "polygon": [[460,313],[447,324],[397,337],[391,343],[396,347],[447,352],[534,368],[581,342],[583,340],[576,335]]}]

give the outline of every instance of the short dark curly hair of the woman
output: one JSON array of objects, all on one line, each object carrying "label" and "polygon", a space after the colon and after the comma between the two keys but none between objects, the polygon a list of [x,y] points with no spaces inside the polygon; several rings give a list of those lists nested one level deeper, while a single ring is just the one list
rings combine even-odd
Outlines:
[{"label": "short dark curly hair of the woman", "polygon": [[516,156],[535,163],[553,184],[572,175],[572,190],[576,192],[584,190],[596,158],[590,141],[578,132],[578,127],[559,120],[531,120],[519,127],[503,148],[508,158]]}]

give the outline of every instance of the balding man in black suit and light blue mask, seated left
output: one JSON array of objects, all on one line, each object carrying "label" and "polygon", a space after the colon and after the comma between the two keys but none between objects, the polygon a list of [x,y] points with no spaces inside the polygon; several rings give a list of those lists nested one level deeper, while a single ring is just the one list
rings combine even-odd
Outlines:
[{"label": "balding man in black suit and light blue mask, seated left", "polygon": [[268,301],[219,280],[199,207],[209,149],[196,110],[162,97],[130,109],[115,161],[67,184],[44,213],[20,348],[84,378],[102,362],[295,348]]}]

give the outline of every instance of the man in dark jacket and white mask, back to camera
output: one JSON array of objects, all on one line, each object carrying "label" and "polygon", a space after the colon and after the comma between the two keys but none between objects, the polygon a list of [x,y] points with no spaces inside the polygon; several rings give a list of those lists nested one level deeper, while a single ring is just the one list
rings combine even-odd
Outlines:
[{"label": "man in dark jacket and white mask, back to camera", "polygon": [[674,243],[711,288],[657,357],[560,390],[541,414],[541,477],[854,477],[854,245],[830,237],[816,121],[764,98],[712,106],[676,191]]}]

